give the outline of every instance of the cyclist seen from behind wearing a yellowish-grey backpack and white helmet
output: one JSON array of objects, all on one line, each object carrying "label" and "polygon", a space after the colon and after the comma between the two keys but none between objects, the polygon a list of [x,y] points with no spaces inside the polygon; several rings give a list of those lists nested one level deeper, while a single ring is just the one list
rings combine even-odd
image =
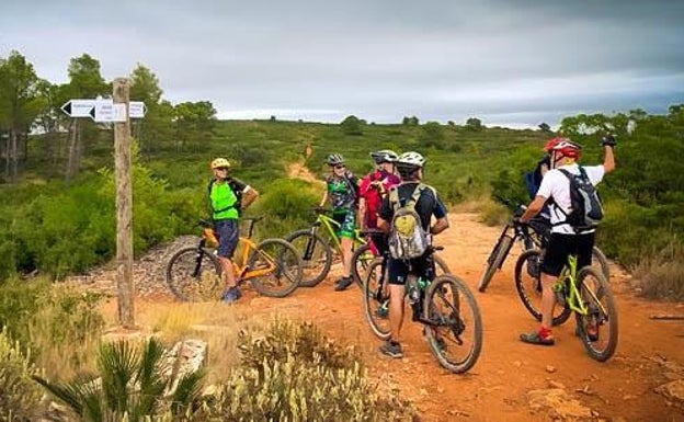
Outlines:
[{"label": "cyclist seen from behind wearing a yellowish-grey backpack and white helmet", "polygon": [[[388,235],[389,324],[391,337],[380,352],[401,357],[399,334],[403,322],[404,285],[409,270],[418,277],[433,280],[434,261],[429,250],[432,235],[449,227],[446,207],[434,187],[422,183],[425,159],[418,152],[404,152],[396,168],[401,183],[390,189],[378,210],[378,228]],[[431,226],[432,217],[436,221]]]}]

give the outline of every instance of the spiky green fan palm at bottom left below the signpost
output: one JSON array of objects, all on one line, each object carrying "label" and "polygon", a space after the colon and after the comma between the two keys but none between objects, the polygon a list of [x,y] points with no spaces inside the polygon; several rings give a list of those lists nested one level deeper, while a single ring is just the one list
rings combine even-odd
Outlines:
[{"label": "spiky green fan palm at bottom left below the signpost", "polygon": [[149,415],[180,415],[201,396],[204,370],[189,373],[164,397],[170,379],[164,373],[163,346],[156,339],[141,347],[127,341],[103,343],[98,354],[99,375],[77,376],[68,383],[33,377],[84,421],[141,421]]}]

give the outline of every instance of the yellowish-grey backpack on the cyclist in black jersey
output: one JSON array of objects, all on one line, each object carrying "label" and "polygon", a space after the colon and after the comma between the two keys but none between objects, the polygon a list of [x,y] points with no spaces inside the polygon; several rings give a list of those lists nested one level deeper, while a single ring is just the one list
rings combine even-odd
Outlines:
[{"label": "yellowish-grey backpack on the cyclist in black jersey", "polygon": [[389,203],[395,212],[389,227],[389,253],[396,260],[410,260],[422,256],[430,247],[430,236],[423,229],[415,204],[428,187],[419,183],[403,206],[399,203],[399,186],[389,190]]}]

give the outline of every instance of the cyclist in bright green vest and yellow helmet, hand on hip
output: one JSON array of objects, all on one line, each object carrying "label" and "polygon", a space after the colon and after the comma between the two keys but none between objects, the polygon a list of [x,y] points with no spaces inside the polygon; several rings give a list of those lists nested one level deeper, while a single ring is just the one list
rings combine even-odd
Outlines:
[{"label": "cyclist in bright green vest and yellow helmet, hand on hip", "polygon": [[218,233],[217,256],[226,282],[226,290],[221,295],[221,300],[230,304],[242,296],[232,271],[232,254],[239,240],[238,218],[242,209],[259,196],[259,192],[232,178],[230,162],[225,158],[212,161],[212,171],[214,179],[207,186],[207,202],[214,221],[214,231]]}]

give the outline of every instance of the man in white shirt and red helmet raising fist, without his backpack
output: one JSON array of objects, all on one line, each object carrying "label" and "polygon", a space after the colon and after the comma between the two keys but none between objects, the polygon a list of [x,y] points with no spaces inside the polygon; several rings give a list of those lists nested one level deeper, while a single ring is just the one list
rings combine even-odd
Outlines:
[{"label": "man in white shirt and red helmet raising fist, without his backpack", "polygon": [[[606,173],[615,170],[615,158],[613,147],[615,138],[605,136],[602,139],[605,155],[602,166],[582,167],[586,172],[590,182],[595,186]],[[552,199],[550,206],[551,214],[551,237],[549,239],[544,261],[542,263],[542,327],[538,331],[521,334],[521,340],[525,343],[554,345],[554,334],[551,323],[556,295],[554,284],[558,280],[563,265],[570,254],[578,256],[578,269],[591,265],[592,249],[594,247],[594,230],[578,231],[569,224],[565,223],[570,214],[570,180],[560,169],[571,174],[579,174],[580,167],[577,160],[580,158],[582,147],[566,138],[554,138],[545,146],[547,152],[551,155],[551,170],[542,180],[542,185],[537,195],[527,206],[525,213],[520,217],[520,221],[525,224],[534,217],[547,201]],[[595,328],[586,328],[588,334],[595,335]]]}]

